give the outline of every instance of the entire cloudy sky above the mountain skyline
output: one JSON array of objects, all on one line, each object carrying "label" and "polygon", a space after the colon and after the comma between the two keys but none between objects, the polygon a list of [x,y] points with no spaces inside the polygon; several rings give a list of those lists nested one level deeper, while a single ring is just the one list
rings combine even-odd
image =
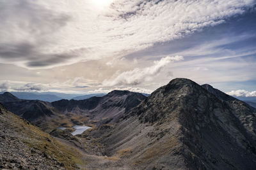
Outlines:
[{"label": "entire cloudy sky above the mountain skyline", "polygon": [[0,91],[256,96],[255,0],[0,0]]}]

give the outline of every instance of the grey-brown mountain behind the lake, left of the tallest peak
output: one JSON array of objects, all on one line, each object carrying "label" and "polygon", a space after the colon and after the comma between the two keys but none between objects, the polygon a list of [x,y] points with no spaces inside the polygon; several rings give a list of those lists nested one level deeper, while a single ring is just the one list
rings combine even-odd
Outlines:
[{"label": "grey-brown mountain behind the lake, left of the tallest peak", "polygon": [[52,103],[60,113],[79,113],[87,115],[90,120],[115,122],[116,115],[120,116],[125,111],[138,106],[146,97],[140,93],[127,90],[113,90],[106,96],[91,97],[80,101],[61,100]]}]

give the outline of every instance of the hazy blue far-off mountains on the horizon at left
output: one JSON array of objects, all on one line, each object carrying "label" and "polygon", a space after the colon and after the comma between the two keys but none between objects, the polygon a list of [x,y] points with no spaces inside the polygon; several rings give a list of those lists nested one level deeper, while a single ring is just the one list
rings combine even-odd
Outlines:
[{"label": "hazy blue far-off mountains on the horizon at left", "polygon": [[10,92],[14,96],[19,97],[19,99],[26,99],[26,100],[40,100],[40,101],[47,101],[47,102],[52,102],[52,101],[59,101],[62,98],[58,97],[53,94],[35,94],[33,92]]}]

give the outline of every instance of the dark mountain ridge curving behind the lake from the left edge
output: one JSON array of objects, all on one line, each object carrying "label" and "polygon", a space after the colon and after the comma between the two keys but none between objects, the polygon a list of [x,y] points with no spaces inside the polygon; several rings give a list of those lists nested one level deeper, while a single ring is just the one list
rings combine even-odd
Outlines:
[{"label": "dark mountain ridge curving behind the lake from the left edge", "polygon": [[115,117],[137,106],[143,99],[145,96],[140,93],[119,90],[102,97],[80,101],[62,99],[52,103],[19,99],[9,92],[0,95],[0,103],[8,110],[33,122],[44,131],[93,121],[115,122]]}]

